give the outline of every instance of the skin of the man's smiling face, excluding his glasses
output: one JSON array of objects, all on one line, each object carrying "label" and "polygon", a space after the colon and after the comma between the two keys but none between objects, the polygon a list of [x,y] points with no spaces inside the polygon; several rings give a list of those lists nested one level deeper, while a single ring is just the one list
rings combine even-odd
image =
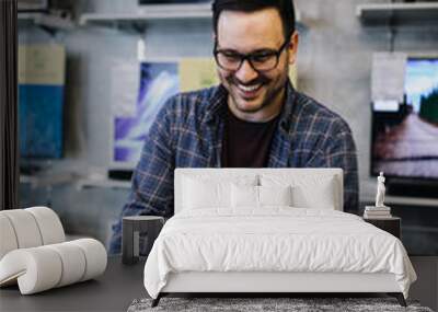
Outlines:
[{"label": "skin of the man's smiling face, excluding his glasses", "polygon": [[[296,34],[293,36],[297,36]],[[219,78],[229,92],[231,111],[245,116],[281,107],[283,94],[288,77],[289,62],[295,61],[293,39],[283,49],[277,66],[267,71],[256,71],[247,60],[238,70],[218,67]],[[276,9],[255,12],[222,11],[217,27],[217,48],[220,50],[250,54],[278,50],[285,43],[281,18]],[[262,113],[262,114],[261,114]],[[265,114],[266,115],[266,114]]]}]

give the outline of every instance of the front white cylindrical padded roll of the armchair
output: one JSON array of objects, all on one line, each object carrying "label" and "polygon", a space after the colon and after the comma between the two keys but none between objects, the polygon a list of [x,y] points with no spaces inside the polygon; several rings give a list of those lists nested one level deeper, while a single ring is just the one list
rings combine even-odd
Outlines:
[{"label": "front white cylindrical padded roll of the armchair", "polygon": [[103,244],[81,239],[9,252],[0,261],[0,286],[18,281],[22,294],[31,294],[94,278],[105,271]]}]

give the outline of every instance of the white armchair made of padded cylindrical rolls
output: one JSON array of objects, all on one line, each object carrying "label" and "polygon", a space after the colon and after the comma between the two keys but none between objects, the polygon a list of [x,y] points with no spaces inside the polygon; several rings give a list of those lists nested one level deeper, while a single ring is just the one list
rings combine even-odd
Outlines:
[{"label": "white armchair made of padded cylindrical rolls", "polygon": [[0,211],[0,287],[18,284],[31,294],[94,278],[106,268],[96,240],[65,242],[58,216],[47,207]]}]

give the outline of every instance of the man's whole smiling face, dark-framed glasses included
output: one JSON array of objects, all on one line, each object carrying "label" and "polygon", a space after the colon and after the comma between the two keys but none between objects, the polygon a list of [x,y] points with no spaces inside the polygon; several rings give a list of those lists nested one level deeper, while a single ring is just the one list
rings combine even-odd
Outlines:
[{"label": "man's whole smiling face, dark-framed glasses included", "polygon": [[221,83],[229,92],[228,107],[240,119],[268,122],[285,102],[288,65],[295,61],[298,34],[293,28],[284,30],[275,8],[231,11],[219,2],[216,8],[222,10],[215,15],[215,57]]}]

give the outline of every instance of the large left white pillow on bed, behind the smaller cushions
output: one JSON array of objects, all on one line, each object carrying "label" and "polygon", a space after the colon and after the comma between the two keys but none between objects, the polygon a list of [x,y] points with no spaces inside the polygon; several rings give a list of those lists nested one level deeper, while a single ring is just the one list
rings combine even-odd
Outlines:
[{"label": "large left white pillow on bed, behind the smaller cushions", "polygon": [[184,176],[183,209],[231,208],[231,184],[254,186],[257,184],[257,176]]}]

